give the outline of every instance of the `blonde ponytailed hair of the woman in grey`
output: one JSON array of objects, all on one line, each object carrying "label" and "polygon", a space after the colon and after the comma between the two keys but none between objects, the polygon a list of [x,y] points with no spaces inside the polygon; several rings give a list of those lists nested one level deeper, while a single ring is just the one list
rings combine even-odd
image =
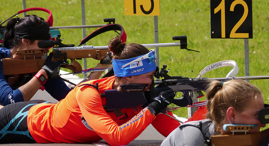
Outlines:
[{"label": "blonde ponytailed hair of the woman in grey", "polygon": [[226,111],[233,107],[237,112],[242,112],[248,107],[250,99],[262,96],[260,90],[244,80],[229,80],[222,87],[220,81],[213,80],[207,90],[207,119],[215,122],[214,130],[223,133],[223,123]]}]

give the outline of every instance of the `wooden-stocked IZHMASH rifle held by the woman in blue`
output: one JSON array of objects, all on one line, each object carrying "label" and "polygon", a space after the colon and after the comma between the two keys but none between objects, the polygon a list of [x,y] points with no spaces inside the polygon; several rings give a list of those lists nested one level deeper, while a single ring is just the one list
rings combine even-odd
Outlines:
[{"label": "wooden-stocked IZHMASH rifle held by the woman in blue", "polygon": [[[91,38],[109,31],[109,30],[120,30],[121,40],[126,41],[126,34],[124,29],[119,24],[109,24],[100,29],[95,30],[91,34],[89,34],[86,38],[84,38],[80,45],[84,44]],[[175,43],[158,43],[158,44],[142,44],[145,47],[171,47],[171,46],[180,46],[180,49],[187,49],[187,36],[173,36],[173,40],[180,40],[180,42]],[[73,44],[62,44],[62,39],[60,39],[60,35],[55,40],[55,45],[58,47],[53,47],[53,58],[52,61],[58,60],[67,60],[70,59],[72,61],[71,64],[63,66],[64,68],[70,69],[73,72],[82,71],[81,65],[75,59],[82,58],[93,58],[95,60],[104,60],[107,58],[107,53],[110,52],[108,46],[78,46],[75,47]],[[187,49],[190,51],[194,51],[191,49]],[[40,50],[33,51],[17,51],[18,54],[36,54],[42,53]],[[4,75],[14,75],[14,74],[23,74],[23,73],[34,73],[38,72],[43,64],[45,63],[45,59],[25,59],[25,60],[12,60],[10,58],[3,58],[3,73]]]}]

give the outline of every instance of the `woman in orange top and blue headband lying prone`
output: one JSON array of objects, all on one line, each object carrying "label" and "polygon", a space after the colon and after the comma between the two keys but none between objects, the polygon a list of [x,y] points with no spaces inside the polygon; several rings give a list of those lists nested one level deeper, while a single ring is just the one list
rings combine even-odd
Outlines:
[{"label": "woman in orange top and blue headband lying prone", "polygon": [[[127,145],[150,124],[163,136],[178,127],[178,121],[161,113],[174,101],[175,93],[168,86],[155,89],[152,84],[155,51],[139,44],[126,45],[118,37],[108,47],[113,52],[115,76],[80,83],[57,104],[31,100],[3,107],[0,143],[85,143],[104,139],[112,146]],[[94,87],[96,83],[99,88]],[[111,89],[127,92],[120,88],[122,84],[147,84],[143,91],[149,90],[150,104],[108,112],[104,108],[108,101],[100,94]],[[127,105],[124,101],[119,104]],[[22,115],[22,119],[16,119]],[[14,122],[9,125],[11,120]],[[16,140],[12,138],[15,135]]]}]

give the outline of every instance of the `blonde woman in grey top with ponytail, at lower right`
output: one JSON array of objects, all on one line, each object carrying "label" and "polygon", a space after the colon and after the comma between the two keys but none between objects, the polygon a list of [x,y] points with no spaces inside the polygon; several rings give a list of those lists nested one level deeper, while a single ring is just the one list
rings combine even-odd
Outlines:
[{"label": "blonde woman in grey top with ponytail, at lower right", "polygon": [[208,85],[206,93],[207,119],[180,125],[161,146],[210,145],[211,135],[232,134],[224,130],[225,124],[253,125],[255,128],[247,134],[259,132],[261,127],[265,127],[258,118],[258,111],[264,108],[264,99],[254,85],[244,80],[214,80]]}]

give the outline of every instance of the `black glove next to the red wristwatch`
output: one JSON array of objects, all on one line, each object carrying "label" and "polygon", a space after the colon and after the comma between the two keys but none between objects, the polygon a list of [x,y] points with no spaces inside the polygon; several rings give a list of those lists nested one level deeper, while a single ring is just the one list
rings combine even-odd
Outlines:
[{"label": "black glove next to the red wristwatch", "polygon": [[[49,53],[49,56],[47,57],[44,65],[41,68],[41,69],[44,69],[46,71],[49,79],[51,79],[51,75],[53,75],[54,70],[57,67],[60,67],[60,65],[66,65],[66,64],[68,64],[68,62],[67,61],[64,61],[64,60],[52,61],[51,60],[52,54],[53,53]],[[56,69],[56,71],[60,71],[60,68],[59,69]]]}]

